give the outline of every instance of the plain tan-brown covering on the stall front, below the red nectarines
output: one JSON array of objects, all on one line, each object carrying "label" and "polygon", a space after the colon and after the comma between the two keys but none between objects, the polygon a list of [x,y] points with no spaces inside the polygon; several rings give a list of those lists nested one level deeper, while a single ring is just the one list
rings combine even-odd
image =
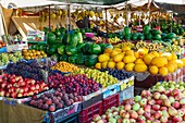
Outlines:
[{"label": "plain tan-brown covering on the stall front, below the red nectarines", "polygon": [[0,123],[41,123],[46,111],[25,104],[5,104],[0,100]]}]

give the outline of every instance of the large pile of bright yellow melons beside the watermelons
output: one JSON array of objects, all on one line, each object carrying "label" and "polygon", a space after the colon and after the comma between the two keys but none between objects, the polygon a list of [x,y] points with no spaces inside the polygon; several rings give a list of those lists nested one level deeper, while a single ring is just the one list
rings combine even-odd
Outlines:
[{"label": "large pile of bright yellow melons beside the watermelons", "polygon": [[[160,62],[159,62],[160,61]],[[185,64],[177,59],[175,53],[162,53],[157,51],[148,52],[147,49],[139,49],[134,52],[130,47],[106,49],[103,54],[98,57],[95,67],[118,69],[137,73],[150,72],[166,76],[169,73],[182,69]]]}]

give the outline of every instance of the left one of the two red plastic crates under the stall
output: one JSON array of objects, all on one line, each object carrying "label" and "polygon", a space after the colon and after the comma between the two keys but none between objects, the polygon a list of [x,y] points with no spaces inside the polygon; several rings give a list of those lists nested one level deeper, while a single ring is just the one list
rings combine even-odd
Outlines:
[{"label": "left one of the two red plastic crates under the stall", "polygon": [[90,123],[95,114],[102,114],[102,101],[82,110],[78,115],[78,123]]}]

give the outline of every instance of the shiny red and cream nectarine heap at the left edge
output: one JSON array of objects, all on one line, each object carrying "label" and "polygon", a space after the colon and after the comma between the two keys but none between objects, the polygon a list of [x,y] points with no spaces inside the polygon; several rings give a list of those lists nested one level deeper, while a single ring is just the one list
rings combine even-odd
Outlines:
[{"label": "shiny red and cream nectarine heap at the left edge", "polygon": [[21,98],[39,94],[49,89],[42,81],[23,78],[14,74],[4,74],[0,77],[0,97]]}]

